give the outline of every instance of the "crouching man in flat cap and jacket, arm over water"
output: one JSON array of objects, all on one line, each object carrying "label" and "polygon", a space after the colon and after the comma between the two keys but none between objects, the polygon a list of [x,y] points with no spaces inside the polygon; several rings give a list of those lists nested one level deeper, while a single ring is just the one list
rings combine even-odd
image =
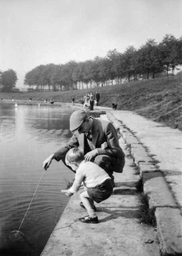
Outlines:
[{"label": "crouching man in flat cap and jacket, arm over water", "polygon": [[111,122],[98,120],[92,116],[87,117],[84,110],[76,110],[70,116],[70,131],[74,134],[69,143],[43,162],[45,170],[53,159],[62,160],[65,164],[68,150],[80,147],[84,152],[85,160],[98,164],[106,170],[112,180],[114,180],[112,175],[114,171],[122,172],[125,154],[119,146],[117,131]]}]

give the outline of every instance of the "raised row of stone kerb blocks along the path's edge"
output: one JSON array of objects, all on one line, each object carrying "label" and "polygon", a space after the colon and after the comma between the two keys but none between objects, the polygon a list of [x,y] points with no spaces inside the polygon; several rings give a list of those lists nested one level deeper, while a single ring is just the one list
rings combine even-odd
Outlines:
[{"label": "raised row of stone kerb blocks along the path's edge", "polygon": [[155,212],[161,255],[182,255],[182,215],[162,173],[147,154],[144,145],[142,146],[125,124],[117,120],[111,112],[106,114],[110,122],[120,128],[125,145],[130,147],[130,154],[139,169],[149,210]]}]

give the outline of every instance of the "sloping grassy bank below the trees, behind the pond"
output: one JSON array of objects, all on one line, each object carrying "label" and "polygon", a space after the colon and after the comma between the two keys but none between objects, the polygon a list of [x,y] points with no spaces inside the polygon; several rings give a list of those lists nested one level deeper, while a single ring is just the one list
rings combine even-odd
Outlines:
[{"label": "sloping grassy bank below the trees, behind the pond", "polygon": [[43,101],[52,98],[55,102],[82,103],[83,95],[92,90],[100,92],[100,106],[112,107],[117,104],[118,110],[131,110],[153,121],[182,130],[182,76],[156,78],[128,84],[114,85],[89,90],[62,92],[17,92],[0,93],[3,99]]}]

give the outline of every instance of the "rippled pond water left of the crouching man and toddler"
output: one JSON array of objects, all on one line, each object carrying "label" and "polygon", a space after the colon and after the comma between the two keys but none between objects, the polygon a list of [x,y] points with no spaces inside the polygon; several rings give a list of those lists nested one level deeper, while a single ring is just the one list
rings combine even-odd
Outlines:
[{"label": "rippled pond water left of the crouching man and toddler", "polygon": [[63,212],[61,194],[74,174],[53,161],[44,173],[22,224],[25,240],[9,239],[22,222],[39,178],[43,160],[68,142],[70,108],[0,105],[0,255],[38,256]]}]

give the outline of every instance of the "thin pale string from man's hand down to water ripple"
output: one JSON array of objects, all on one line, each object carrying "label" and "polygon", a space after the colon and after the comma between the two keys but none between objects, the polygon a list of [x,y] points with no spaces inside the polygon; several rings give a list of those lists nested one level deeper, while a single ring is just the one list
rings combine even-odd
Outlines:
[{"label": "thin pale string from man's hand down to water ripple", "polygon": [[45,169],[44,169],[43,172],[42,172],[41,178],[40,178],[40,180],[39,180],[39,182],[38,182],[38,184],[37,184],[37,187],[36,187],[36,189],[35,189],[35,192],[34,192],[34,194],[33,194],[33,197],[31,198],[31,202],[29,203],[29,206],[28,206],[28,208],[27,208],[27,211],[25,212],[25,215],[24,215],[23,220],[22,220],[22,222],[21,222],[21,224],[20,224],[20,227],[18,228],[18,230],[13,230],[13,231],[10,233],[10,235],[9,235],[10,240],[21,240],[23,237],[25,237],[25,236],[23,235],[23,233],[20,231],[20,228],[21,228],[21,226],[22,226],[22,224],[23,224],[23,221],[25,220],[25,217],[26,217],[27,212],[28,212],[28,210],[29,210],[29,208],[30,208],[30,206],[31,206],[31,203],[32,203],[32,201],[33,201],[33,198],[34,198],[34,196],[35,196],[35,194],[36,194],[36,192],[37,192],[38,186],[39,186],[39,184],[40,184],[40,182],[41,182],[41,179],[42,179],[42,177],[43,177],[44,172],[45,172]]}]

